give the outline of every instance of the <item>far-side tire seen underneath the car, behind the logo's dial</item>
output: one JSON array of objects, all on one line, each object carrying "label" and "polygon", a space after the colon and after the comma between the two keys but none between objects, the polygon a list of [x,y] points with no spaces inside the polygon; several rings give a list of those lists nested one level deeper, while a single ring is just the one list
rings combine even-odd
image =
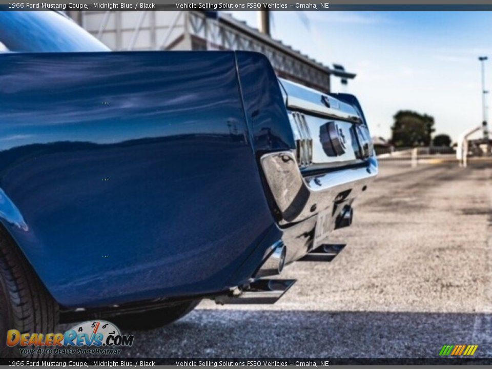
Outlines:
[{"label": "far-side tire seen underneath the car, behind the logo's dial", "polygon": [[200,301],[192,300],[143,313],[121,314],[108,319],[122,329],[151,330],[181,319],[195,309]]}]

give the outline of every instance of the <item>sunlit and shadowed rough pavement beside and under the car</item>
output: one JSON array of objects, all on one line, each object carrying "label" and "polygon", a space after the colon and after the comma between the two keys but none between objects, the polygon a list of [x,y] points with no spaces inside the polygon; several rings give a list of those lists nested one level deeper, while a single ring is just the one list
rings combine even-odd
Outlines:
[{"label": "sunlit and shadowed rough pavement beside and under the car", "polygon": [[276,304],[203,301],[168,327],[131,332],[122,355],[428,358],[479,344],[475,356],[492,357],[491,179],[490,163],[382,163],[353,226],[333,233],[347,247],[287,267],[282,277],[298,281]]}]

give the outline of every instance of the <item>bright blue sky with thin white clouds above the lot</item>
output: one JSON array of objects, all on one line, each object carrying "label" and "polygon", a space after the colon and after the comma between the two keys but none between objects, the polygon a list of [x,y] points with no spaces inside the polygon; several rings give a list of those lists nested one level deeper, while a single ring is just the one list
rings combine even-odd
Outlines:
[{"label": "bright blue sky with thin white clouds above the lot", "polygon": [[[373,136],[391,137],[398,110],[434,116],[435,134],[456,141],[481,125],[481,69],[492,90],[492,12],[273,12],[272,36],[325,65],[357,73],[356,95]],[[232,12],[257,27],[255,12]],[[302,22],[309,19],[309,28]],[[487,96],[490,105],[490,94]]]}]

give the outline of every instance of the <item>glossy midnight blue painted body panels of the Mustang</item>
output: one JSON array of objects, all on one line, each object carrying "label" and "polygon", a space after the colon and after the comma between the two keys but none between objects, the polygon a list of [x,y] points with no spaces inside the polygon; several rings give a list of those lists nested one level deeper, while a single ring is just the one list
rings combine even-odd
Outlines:
[{"label": "glossy midnight blue painted body panels of the Mustang", "polygon": [[54,299],[247,282],[284,233],[260,157],[296,150],[268,59],[109,52],[54,12],[1,12],[0,25],[17,51],[0,55],[0,220]]}]

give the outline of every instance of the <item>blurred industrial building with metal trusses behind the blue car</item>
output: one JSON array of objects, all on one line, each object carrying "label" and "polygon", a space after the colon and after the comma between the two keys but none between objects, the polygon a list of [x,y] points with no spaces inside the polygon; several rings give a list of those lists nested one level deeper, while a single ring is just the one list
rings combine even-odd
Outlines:
[{"label": "blurred industrial building with metal trusses behind the blue car", "polygon": [[268,56],[277,75],[330,92],[331,76],[354,78],[325,66],[226,13],[205,11],[67,12],[112,50],[248,50]]}]

